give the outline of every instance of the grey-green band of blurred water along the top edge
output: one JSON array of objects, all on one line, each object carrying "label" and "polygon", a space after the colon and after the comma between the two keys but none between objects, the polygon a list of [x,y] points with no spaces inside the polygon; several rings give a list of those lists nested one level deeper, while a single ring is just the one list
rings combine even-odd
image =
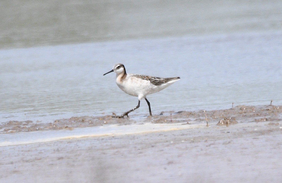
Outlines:
[{"label": "grey-green band of blurred water along the top edge", "polygon": [[0,48],[281,31],[282,1],[0,1]]}]

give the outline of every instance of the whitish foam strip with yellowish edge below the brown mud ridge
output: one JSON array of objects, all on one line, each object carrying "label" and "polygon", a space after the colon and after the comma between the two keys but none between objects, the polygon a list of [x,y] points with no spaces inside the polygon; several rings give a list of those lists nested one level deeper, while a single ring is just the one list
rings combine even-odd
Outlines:
[{"label": "whitish foam strip with yellowish edge below the brown mud ridge", "polygon": [[35,132],[20,132],[14,134],[1,134],[0,147],[9,145],[23,145],[42,143],[71,138],[99,137],[109,135],[129,135],[140,133],[181,130],[188,128],[205,127],[205,125],[182,125],[174,124],[138,124],[138,125],[106,125],[100,127],[75,128],[74,130],[49,130]]}]

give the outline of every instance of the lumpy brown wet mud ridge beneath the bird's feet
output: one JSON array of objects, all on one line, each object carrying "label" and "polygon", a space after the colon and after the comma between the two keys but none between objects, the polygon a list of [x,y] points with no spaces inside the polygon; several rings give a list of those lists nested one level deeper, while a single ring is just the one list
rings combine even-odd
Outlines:
[{"label": "lumpy brown wet mud ridge beneath the bird's feet", "polygon": [[235,106],[225,110],[168,111],[148,117],[116,118],[110,115],[93,117],[80,116],[57,119],[53,123],[43,121],[7,121],[0,125],[0,133],[32,132],[44,130],[72,130],[74,128],[97,127],[103,125],[131,125],[144,123],[181,123],[183,125],[216,124],[219,126],[238,123],[267,122],[268,125],[281,125],[282,106]]}]

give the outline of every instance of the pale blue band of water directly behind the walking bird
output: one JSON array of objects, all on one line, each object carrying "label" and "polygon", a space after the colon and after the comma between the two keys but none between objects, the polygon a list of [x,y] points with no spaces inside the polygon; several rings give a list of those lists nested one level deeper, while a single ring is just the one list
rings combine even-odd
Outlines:
[{"label": "pale blue band of water directly behind the walking bird", "polygon": [[[181,77],[147,96],[153,114],[282,104],[281,50],[281,32],[1,50],[1,121],[133,108],[138,99],[116,86],[115,74],[103,76],[116,62],[128,73]],[[147,115],[146,102],[134,113]]]}]

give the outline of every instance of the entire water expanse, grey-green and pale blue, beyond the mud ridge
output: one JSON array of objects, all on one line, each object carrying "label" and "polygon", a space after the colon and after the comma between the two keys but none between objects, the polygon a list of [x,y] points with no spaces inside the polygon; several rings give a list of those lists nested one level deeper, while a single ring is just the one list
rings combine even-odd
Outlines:
[{"label": "entire water expanse, grey-green and pale blue, beyond the mud ridge", "polygon": [[[122,114],[110,71],[181,80],[152,113],[282,104],[282,1],[0,1],[0,122]],[[134,112],[148,115],[146,101]]]}]

